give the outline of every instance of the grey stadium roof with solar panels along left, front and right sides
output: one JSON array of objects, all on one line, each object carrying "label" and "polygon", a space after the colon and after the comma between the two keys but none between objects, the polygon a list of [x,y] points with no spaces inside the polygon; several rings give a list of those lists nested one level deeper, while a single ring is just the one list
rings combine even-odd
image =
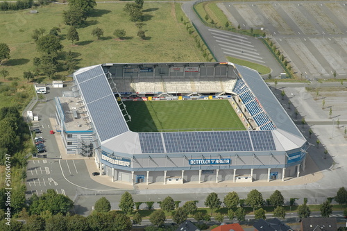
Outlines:
[{"label": "grey stadium roof with solar panels along left, front and right sides", "polygon": [[[218,62],[211,64],[219,65]],[[303,146],[305,138],[257,71],[233,66],[276,125],[276,130],[132,132],[101,65],[79,69],[74,78],[99,141],[105,148],[119,153],[287,151]]]}]

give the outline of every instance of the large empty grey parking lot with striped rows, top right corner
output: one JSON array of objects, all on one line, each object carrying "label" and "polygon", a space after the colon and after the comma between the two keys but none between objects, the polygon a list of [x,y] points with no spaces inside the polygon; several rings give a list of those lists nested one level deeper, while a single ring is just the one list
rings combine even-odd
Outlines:
[{"label": "large empty grey parking lot with striped rows, top right corner", "polygon": [[222,8],[234,26],[264,28],[303,78],[332,78],[335,71],[347,77],[346,2],[229,2]]}]

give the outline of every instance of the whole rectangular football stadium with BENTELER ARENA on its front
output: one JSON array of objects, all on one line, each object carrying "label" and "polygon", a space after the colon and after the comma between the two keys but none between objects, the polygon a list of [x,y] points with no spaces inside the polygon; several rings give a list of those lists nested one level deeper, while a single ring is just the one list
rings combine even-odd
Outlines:
[{"label": "whole rectangular football stadium with BENTELER ARENA on its front", "polygon": [[112,181],[283,181],[305,170],[309,144],[253,69],[110,63],[73,76],[56,97],[56,130]]}]

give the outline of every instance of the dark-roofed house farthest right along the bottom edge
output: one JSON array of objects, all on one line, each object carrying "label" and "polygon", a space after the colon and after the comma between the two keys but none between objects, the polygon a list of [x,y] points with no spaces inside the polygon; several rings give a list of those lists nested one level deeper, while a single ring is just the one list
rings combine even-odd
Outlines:
[{"label": "dark-roofed house farthest right along the bottom edge", "polygon": [[334,217],[307,217],[301,220],[301,231],[336,231],[337,222]]}]

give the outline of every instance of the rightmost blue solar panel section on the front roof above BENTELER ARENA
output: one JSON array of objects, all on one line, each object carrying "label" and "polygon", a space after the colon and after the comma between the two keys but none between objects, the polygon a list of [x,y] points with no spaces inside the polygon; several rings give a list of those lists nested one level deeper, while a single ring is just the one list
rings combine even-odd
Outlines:
[{"label": "rightmost blue solar panel section on the front roof above BENTELER ARENA", "polygon": [[254,151],[275,151],[271,130],[250,131]]}]

